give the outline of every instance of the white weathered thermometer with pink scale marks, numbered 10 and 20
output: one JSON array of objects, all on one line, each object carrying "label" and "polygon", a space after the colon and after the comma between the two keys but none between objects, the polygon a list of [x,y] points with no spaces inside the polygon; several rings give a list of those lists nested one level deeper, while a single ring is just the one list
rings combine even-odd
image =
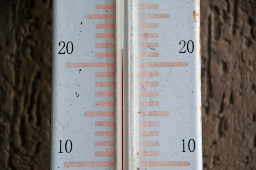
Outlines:
[{"label": "white weathered thermometer with pink scale marks, numbered 10 and 20", "polygon": [[52,170],[202,170],[199,0],[54,0]]}]

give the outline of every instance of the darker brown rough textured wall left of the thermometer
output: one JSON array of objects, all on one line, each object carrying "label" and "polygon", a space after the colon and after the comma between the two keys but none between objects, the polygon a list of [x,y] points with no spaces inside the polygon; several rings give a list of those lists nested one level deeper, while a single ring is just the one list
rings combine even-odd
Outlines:
[{"label": "darker brown rough textured wall left of the thermometer", "polygon": [[0,170],[49,170],[52,2],[0,0]]}]

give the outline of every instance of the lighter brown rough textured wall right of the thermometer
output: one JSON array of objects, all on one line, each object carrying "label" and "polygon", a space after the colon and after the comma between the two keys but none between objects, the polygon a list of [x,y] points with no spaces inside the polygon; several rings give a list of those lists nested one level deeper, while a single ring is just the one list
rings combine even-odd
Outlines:
[{"label": "lighter brown rough textured wall right of the thermometer", "polygon": [[255,0],[201,0],[204,170],[256,170],[255,41]]}]

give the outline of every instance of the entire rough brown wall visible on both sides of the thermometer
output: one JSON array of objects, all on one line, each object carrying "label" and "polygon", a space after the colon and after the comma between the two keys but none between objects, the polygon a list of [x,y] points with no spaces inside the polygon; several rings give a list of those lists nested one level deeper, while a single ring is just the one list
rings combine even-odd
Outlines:
[{"label": "entire rough brown wall visible on both sides of the thermometer", "polygon": [[[52,0],[0,0],[0,170],[49,170]],[[204,170],[256,170],[256,1],[201,0]]]}]

